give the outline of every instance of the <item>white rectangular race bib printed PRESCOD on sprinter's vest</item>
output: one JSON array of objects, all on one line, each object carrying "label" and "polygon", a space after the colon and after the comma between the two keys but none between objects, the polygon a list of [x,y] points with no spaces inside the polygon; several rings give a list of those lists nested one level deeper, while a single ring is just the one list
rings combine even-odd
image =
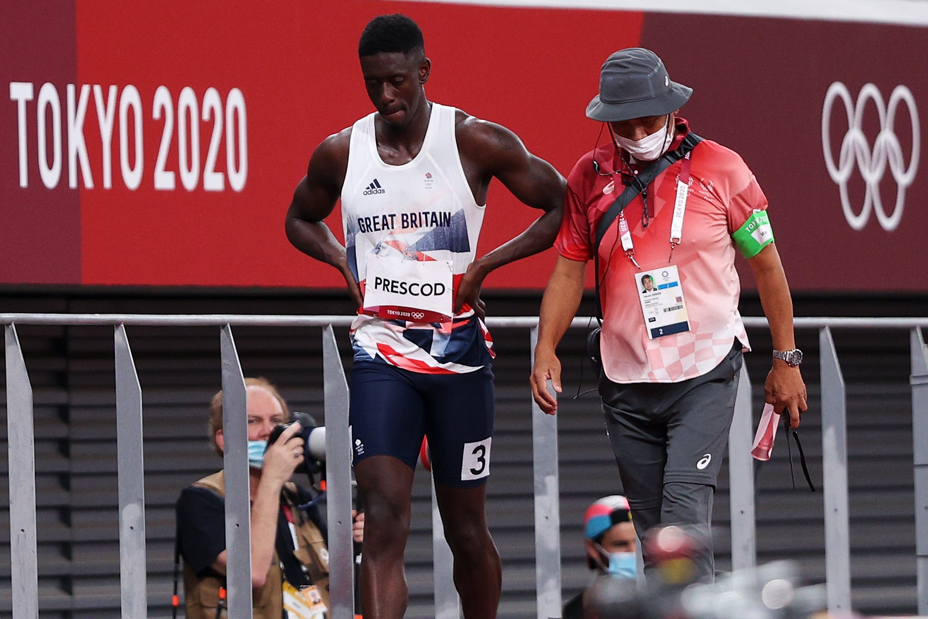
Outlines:
[{"label": "white rectangular race bib printed PRESCOD on sprinter's vest", "polygon": [[454,276],[450,260],[367,256],[364,311],[390,320],[448,322]]}]

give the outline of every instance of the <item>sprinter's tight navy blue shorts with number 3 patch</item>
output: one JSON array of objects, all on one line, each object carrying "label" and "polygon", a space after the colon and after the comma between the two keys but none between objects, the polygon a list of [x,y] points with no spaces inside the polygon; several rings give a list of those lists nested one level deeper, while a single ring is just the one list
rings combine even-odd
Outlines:
[{"label": "sprinter's tight navy blue shorts with number 3 patch", "polygon": [[355,361],[351,374],[354,464],[393,456],[416,468],[422,437],[429,437],[437,484],[486,484],[493,436],[493,370],[422,374]]}]

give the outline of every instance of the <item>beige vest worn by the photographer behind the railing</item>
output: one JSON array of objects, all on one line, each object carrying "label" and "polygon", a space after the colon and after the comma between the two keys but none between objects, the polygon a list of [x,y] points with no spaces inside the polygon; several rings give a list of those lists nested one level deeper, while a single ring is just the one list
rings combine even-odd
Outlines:
[{"label": "beige vest worn by the photographer behind the railing", "polygon": [[[200,488],[212,490],[219,496],[226,496],[226,476],[223,471],[204,477],[196,484]],[[300,548],[293,551],[309,573],[310,580],[319,587],[322,599],[329,605],[329,551],[325,540],[316,524],[303,515],[301,509],[295,508],[296,484],[284,484],[282,498],[290,505],[293,514],[293,524],[296,527],[297,540]],[[190,566],[184,563],[184,592],[187,605],[187,619],[226,619],[226,611],[216,617],[216,608],[219,605],[219,588],[225,587],[225,582],[213,576],[200,578],[193,573]],[[271,560],[271,569],[267,573],[264,587],[252,591],[254,619],[280,619],[283,616],[283,571],[280,569],[280,559],[277,550]],[[225,602],[224,602],[225,604]]]}]

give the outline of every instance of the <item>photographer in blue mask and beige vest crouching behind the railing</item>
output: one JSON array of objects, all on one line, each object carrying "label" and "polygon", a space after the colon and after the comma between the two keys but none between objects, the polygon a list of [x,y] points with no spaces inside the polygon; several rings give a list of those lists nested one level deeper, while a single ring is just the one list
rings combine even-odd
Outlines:
[{"label": "photographer in blue mask and beige vest crouching behind the railing", "polygon": [[[293,423],[268,445],[271,432],[290,420],[287,402],[264,379],[246,379],[251,478],[251,583],[255,619],[318,616],[329,603],[329,552],[313,495],[290,482],[304,461],[302,427]],[[222,392],[210,403],[210,438],[222,456]],[[219,471],[181,491],[177,544],[184,558],[187,619],[221,619],[225,604],[225,476]],[[300,506],[303,506],[301,508]],[[363,537],[364,515],[354,522]],[[291,612],[302,608],[303,613]]]}]

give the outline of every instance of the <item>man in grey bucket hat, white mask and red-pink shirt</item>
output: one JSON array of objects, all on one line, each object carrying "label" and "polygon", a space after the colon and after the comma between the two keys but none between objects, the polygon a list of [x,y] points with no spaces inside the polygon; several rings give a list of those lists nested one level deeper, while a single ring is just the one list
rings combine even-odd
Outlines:
[{"label": "man in grey bucket hat, white mask and red-pink shirt", "polygon": [[[599,394],[642,537],[659,524],[709,531],[742,352],[750,350],[738,313],[736,250],[754,271],[776,349],[767,402],[789,414],[793,427],[806,410],[793,302],[767,198],[736,152],[693,134],[678,115],[691,95],[650,50],[623,49],[602,65],[586,116],[604,123],[612,139],[581,157],[568,179],[531,376],[538,406],[554,414],[548,380],[561,392],[555,347],[582,298],[586,262],[596,259]],[[642,291],[644,276],[653,291]],[[647,548],[644,559],[648,574]],[[712,579],[711,548],[696,562]]]}]

